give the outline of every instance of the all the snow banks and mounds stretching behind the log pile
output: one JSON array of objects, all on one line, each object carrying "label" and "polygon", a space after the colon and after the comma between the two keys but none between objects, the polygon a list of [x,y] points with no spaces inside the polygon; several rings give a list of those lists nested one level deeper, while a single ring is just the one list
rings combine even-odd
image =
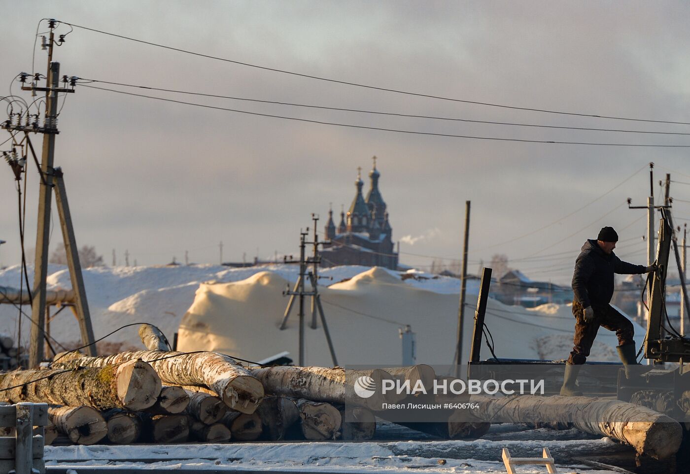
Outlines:
[{"label": "all the snow banks and mounds stretching behind the log pile", "polygon": [[[294,265],[252,268],[224,266],[99,267],[83,271],[96,337],[137,322],[159,326],[172,341],[179,330],[181,350],[220,350],[245,359],[263,359],[288,350],[297,358],[295,302],[286,330],[279,330],[288,297],[282,292],[297,280]],[[406,273],[363,266],[319,270],[319,288],[328,327],[340,364],[401,362],[399,329],[416,333],[417,361],[451,364],[457,331],[460,281],[411,270]],[[30,275],[29,281],[33,282]],[[328,285],[328,287],[326,287]],[[0,270],[0,286],[19,287],[19,266]],[[26,288],[26,285],[24,286]],[[68,270],[49,266],[48,288],[70,288]],[[307,286],[308,288],[308,286]],[[478,282],[470,281],[465,309],[463,352],[469,356]],[[23,307],[30,314],[30,307]],[[52,312],[55,313],[55,308]],[[311,308],[305,303],[306,362],[331,364],[326,339],[317,320],[309,328]],[[17,333],[19,312],[0,305],[0,332]],[[183,315],[184,321],[183,321]],[[569,306],[549,304],[526,310],[489,300],[486,324],[498,357],[563,359],[571,349],[574,319]],[[23,318],[26,343],[30,321]],[[52,337],[64,346],[79,345],[79,328],[69,310],[50,325]],[[638,344],[644,330],[635,326]],[[101,350],[141,348],[137,327],[126,328],[101,343]],[[615,335],[600,330],[592,360],[617,360]],[[482,357],[490,357],[482,346]]]}]

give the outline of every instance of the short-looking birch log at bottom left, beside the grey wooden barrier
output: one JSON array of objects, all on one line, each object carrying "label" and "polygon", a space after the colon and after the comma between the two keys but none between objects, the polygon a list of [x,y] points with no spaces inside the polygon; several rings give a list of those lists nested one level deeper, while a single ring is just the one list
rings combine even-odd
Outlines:
[{"label": "short-looking birch log at bottom left, beside the grey wooden barrier", "polygon": [[73,443],[95,444],[108,434],[106,420],[90,406],[49,406],[48,418]]}]

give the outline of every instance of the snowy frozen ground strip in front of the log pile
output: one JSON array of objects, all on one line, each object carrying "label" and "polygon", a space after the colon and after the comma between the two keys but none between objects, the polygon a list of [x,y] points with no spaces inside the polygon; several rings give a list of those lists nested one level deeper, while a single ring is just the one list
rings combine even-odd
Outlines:
[{"label": "snowy frozen ground strip in front of the log pile", "polygon": [[[391,426],[398,439],[413,432]],[[381,431],[386,431],[386,427]],[[579,440],[572,438],[579,434]],[[386,434],[382,433],[385,437]],[[586,436],[586,435],[584,435]],[[535,440],[535,437],[540,440]],[[604,474],[615,471],[573,462],[573,457],[616,451],[608,438],[582,439],[574,431],[527,431],[522,425],[494,425],[475,441],[299,442],[179,444],[170,446],[46,446],[46,465],[61,468],[212,470],[258,469],[295,472],[501,473],[501,448],[514,457],[538,457],[548,447],[559,473]],[[559,462],[559,459],[569,462]],[[543,466],[521,466],[520,473],[543,473]]]}]

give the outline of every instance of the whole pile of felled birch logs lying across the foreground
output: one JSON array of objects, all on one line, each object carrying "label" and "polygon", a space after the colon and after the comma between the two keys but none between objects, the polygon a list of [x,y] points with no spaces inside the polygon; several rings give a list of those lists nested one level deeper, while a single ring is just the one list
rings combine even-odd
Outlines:
[{"label": "whole pile of felled birch logs lying across the foreground", "polygon": [[[426,365],[373,371],[247,367],[219,353],[174,352],[154,326],[142,325],[139,335],[147,350],[103,357],[72,351],[56,355],[50,368],[2,374],[0,402],[51,404],[54,428],[46,429],[46,444],[57,433],[78,444],[370,440],[376,417],[386,416],[380,411],[382,403],[402,402],[405,395],[389,391],[364,398],[350,382],[364,377],[377,386],[395,379],[430,387],[437,377]],[[516,422],[525,421],[517,419],[520,413],[543,410],[557,419],[559,410],[568,410],[575,398],[524,395],[478,401],[475,422],[453,419],[466,415],[453,411],[445,422],[406,426],[444,439],[476,438],[489,430],[499,411],[502,417],[514,413]],[[633,421],[575,424],[582,431],[613,437],[638,453],[660,458],[680,446],[680,425],[649,408],[608,400],[597,404],[593,399],[583,399],[582,406],[602,415],[602,410],[623,411]]]}]

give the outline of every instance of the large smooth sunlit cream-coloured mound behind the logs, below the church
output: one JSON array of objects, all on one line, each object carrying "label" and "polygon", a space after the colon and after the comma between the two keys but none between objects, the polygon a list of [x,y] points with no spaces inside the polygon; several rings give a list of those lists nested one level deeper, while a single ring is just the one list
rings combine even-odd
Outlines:
[{"label": "large smooth sunlit cream-coloured mound behind the logs, below the church", "polygon": [[[298,354],[299,319],[295,301],[287,328],[279,329],[288,298],[288,280],[266,271],[240,282],[201,284],[179,327],[179,350],[217,350],[259,360],[284,350]],[[455,350],[458,295],[435,293],[403,282],[383,268],[371,268],[344,282],[319,288],[338,362],[397,365],[402,359],[399,328],[417,333],[417,362],[451,364]],[[467,295],[463,353],[469,358],[473,306]],[[305,299],[307,365],[330,366],[322,325],[310,327],[309,298]],[[565,359],[572,347],[575,319],[569,306],[545,305],[526,310],[490,299],[486,324],[493,334],[497,357]],[[638,344],[644,330],[635,325]],[[600,330],[591,360],[616,361],[615,335]],[[491,357],[485,346],[482,358]]]}]

